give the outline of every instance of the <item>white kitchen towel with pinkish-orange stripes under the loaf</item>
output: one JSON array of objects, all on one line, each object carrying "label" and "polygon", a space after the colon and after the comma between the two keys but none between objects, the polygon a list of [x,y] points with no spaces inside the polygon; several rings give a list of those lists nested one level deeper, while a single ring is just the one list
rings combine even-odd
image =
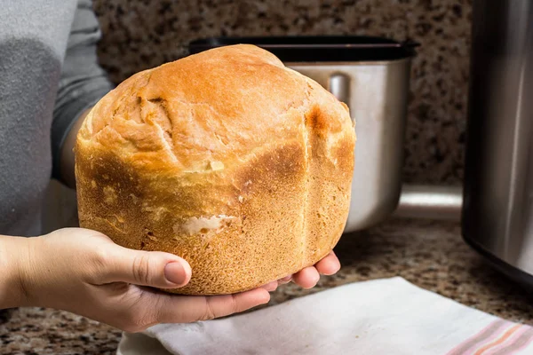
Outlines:
[{"label": "white kitchen towel with pinkish-orange stripes under the loaf", "polygon": [[533,327],[402,278],[331,288],[257,312],[124,334],[118,355],[533,354]]}]

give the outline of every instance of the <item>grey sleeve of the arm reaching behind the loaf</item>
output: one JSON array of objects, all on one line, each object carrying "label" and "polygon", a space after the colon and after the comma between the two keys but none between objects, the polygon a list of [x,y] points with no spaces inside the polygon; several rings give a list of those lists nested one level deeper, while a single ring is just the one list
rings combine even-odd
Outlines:
[{"label": "grey sleeve of the arm reaching behind the loaf", "polygon": [[60,150],[72,124],[113,86],[99,67],[96,44],[101,36],[91,0],[78,0],[52,122],[52,177],[60,179]]}]

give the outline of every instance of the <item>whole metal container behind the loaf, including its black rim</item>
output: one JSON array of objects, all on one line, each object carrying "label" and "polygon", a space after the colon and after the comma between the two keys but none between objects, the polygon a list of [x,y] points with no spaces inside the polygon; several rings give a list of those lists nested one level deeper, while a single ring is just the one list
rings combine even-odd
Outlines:
[{"label": "whole metal container behind the loaf, including its black rim", "polygon": [[402,192],[412,43],[360,36],[211,38],[191,43],[189,51],[235,43],[272,51],[349,106],[357,142],[345,233],[390,216]]}]

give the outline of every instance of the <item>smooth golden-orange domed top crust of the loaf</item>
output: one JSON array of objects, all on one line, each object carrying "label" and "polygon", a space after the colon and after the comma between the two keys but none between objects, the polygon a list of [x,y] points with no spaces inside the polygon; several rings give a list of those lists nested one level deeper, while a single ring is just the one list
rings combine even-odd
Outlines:
[{"label": "smooth golden-orange domed top crust of the loaf", "polygon": [[218,170],[293,137],[310,106],[318,133],[352,127],[347,107],[268,51],[235,45],[148,69],[111,91],[87,117],[79,138],[120,149],[123,157],[172,173]]}]

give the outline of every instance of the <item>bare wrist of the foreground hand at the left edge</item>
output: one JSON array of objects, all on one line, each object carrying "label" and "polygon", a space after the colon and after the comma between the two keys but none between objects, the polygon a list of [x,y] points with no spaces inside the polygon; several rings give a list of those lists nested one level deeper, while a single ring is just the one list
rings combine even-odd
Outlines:
[{"label": "bare wrist of the foreground hand at the left edge", "polygon": [[26,305],[23,282],[24,262],[30,260],[29,242],[33,238],[0,235],[0,309]]}]

